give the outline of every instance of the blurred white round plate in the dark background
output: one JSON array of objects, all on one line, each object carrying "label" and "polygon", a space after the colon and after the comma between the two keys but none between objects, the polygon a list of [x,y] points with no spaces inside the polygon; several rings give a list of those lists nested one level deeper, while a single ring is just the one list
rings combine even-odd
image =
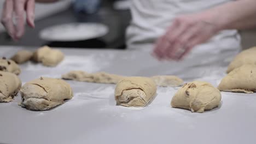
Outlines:
[{"label": "blurred white round plate in the dark background", "polygon": [[43,29],[39,37],[49,41],[77,41],[102,37],[108,31],[101,23],[66,23]]}]

